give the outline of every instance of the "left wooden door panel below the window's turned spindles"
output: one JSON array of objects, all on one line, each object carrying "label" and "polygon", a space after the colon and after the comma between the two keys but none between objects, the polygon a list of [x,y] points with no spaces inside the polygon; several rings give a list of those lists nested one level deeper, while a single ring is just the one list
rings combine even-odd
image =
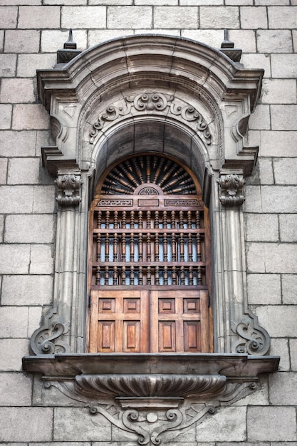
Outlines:
[{"label": "left wooden door panel below the window's turned spindles", "polygon": [[90,353],[150,351],[148,291],[93,290]]}]

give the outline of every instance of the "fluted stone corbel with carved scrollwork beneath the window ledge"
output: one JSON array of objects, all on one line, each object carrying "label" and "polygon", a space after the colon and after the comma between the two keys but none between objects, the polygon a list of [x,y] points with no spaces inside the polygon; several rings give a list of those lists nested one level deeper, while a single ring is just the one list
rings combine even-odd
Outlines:
[{"label": "fluted stone corbel with carved scrollwork beneath the window ledge", "polygon": [[[88,408],[90,415],[102,415],[118,429],[135,434],[135,445],[161,445],[165,432],[167,441],[174,441],[177,435],[186,435],[194,424],[217,413],[217,408],[244,398],[259,386],[255,381],[228,383],[224,375],[77,375],[74,383],[44,383],[44,388],[56,388]],[[113,403],[94,402],[115,395]],[[134,407],[127,395],[134,395]],[[196,398],[186,402],[186,395]],[[205,397],[207,403],[202,401]],[[158,401],[165,405],[158,407]],[[96,424],[99,429],[100,420],[94,418]]]}]

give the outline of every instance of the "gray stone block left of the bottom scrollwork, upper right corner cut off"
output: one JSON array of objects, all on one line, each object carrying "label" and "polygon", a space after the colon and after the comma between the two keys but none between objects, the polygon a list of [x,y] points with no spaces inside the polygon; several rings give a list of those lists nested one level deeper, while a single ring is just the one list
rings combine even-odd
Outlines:
[{"label": "gray stone block left of the bottom scrollwork, upper right corner cut off", "polygon": [[55,408],[53,440],[111,440],[110,422],[103,415],[91,415],[88,408]]}]

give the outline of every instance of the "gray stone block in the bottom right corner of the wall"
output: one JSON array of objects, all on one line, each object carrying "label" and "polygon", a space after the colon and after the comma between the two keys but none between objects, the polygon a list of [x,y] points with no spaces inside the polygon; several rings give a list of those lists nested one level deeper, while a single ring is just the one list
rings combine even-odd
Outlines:
[{"label": "gray stone block in the bottom right corner of the wall", "polygon": [[296,440],[295,408],[249,407],[247,437],[256,442]]}]

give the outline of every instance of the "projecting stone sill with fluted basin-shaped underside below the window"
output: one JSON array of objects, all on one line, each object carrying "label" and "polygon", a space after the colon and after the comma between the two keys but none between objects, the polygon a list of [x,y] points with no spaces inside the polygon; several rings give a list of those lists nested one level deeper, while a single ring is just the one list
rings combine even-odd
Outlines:
[{"label": "projecting stone sill with fluted basin-shaped underside below the window", "polygon": [[183,398],[217,398],[228,383],[252,387],[278,363],[278,356],[236,353],[60,353],[25,356],[23,369],[43,375],[47,385],[72,381],[76,393],[113,397],[122,407],[172,407]]}]

